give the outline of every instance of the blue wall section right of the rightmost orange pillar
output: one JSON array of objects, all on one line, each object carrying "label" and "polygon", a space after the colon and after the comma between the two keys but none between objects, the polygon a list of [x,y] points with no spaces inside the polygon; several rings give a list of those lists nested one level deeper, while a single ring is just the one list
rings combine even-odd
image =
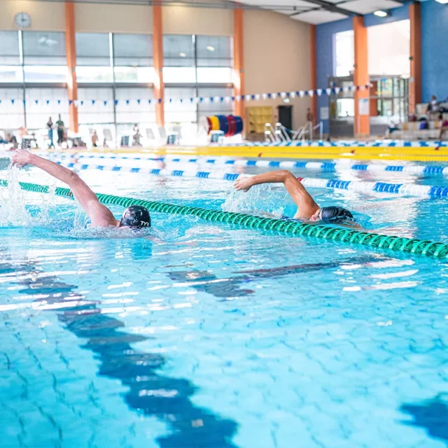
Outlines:
[{"label": "blue wall section right of the rightmost orange pillar", "polygon": [[448,97],[448,5],[421,3],[421,80],[423,102]]}]

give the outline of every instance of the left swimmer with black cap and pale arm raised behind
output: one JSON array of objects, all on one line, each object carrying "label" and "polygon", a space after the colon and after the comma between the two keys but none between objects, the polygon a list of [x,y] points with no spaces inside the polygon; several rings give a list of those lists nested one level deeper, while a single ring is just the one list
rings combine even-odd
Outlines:
[{"label": "left swimmer with black cap and pale arm raised behind", "polygon": [[92,222],[91,227],[121,227],[121,228],[149,228],[151,227],[151,216],[149,211],[145,207],[140,205],[132,205],[128,207],[121,220],[118,221],[112,214],[112,212],[101,202],[99,202],[97,196],[90,190],[87,183],[85,183],[78,174],[72,172],[70,169],[57,165],[55,162],[43,159],[25,151],[19,149],[15,151],[13,159],[11,160],[13,165],[17,165],[22,168],[26,165],[33,165],[43,169],[43,171],[50,174],[50,176],[59,179],[66,183],[75,199],[80,203],[81,207],[85,210],[87,216],[89,216]]}]

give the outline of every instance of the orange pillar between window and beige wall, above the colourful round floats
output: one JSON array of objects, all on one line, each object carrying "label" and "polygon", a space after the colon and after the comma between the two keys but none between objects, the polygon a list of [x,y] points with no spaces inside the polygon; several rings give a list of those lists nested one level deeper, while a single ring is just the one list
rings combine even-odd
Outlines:
[{"label": "orange pillar between window and beige wall, above the colourful round floats", "polygon": [[[233,10],[233,69],[235,97],[244,95],[243,10]],[[244,118],[244,101],[235,101],[235,115]]]}]

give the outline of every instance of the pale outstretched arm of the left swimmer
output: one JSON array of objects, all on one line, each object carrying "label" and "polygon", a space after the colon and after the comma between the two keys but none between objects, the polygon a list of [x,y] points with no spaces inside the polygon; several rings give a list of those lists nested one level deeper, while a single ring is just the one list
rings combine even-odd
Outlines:
[{"label": "pale outstretched arm of the left swimmer", "polygon": [[80,179],[78,174],[73,173],[70,169],[57,165],[55,162],[38,157],[38,155],[31,154],[28,151],[19,149],[15,152],[13,165],[18,167],[25,167],[25,165],[34,165],[43,169],[43,171],[50,174],[50,176],[59,179],[66,183],[75,199],[80,203],[81,207],[85,210],[85,213],[92,221],[92,226],[107,227],[109,225],[119,225],[119,221],[113,217],[112,212],[101,202],[99,202],[97,196],[87,186],[87,184]]}]

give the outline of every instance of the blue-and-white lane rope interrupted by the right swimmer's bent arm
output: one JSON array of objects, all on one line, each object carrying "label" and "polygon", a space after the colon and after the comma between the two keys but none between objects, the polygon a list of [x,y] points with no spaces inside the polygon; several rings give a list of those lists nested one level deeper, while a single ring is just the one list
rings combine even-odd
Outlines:
[{"label": "blue-and-white lane rope interrupted by the right swimmer's bent arm", "polygon": [[[208,172],[197,170],[118,167],[113,165],[87,165],[73,162],[57,162],[58,165],[69,169],[85,171],[97,169],[99,171],[125,172],[135,174],[149,174],[151,176],[172,176],[191,179],[214,179],[222,181],[236,181],[239,178],[252,177],[253,174],[223,173],[221,171]],[[441,199],[448,197],[448,186],[423,186],[414,183],[386,183],[367,181],[342,181],[339,179],[318,179],[312,177],[297,178],[308,188],[329,188],[330,190],[349,190],[358,193],[387,193],[398,196],[414,196],[423,199]]]}]

